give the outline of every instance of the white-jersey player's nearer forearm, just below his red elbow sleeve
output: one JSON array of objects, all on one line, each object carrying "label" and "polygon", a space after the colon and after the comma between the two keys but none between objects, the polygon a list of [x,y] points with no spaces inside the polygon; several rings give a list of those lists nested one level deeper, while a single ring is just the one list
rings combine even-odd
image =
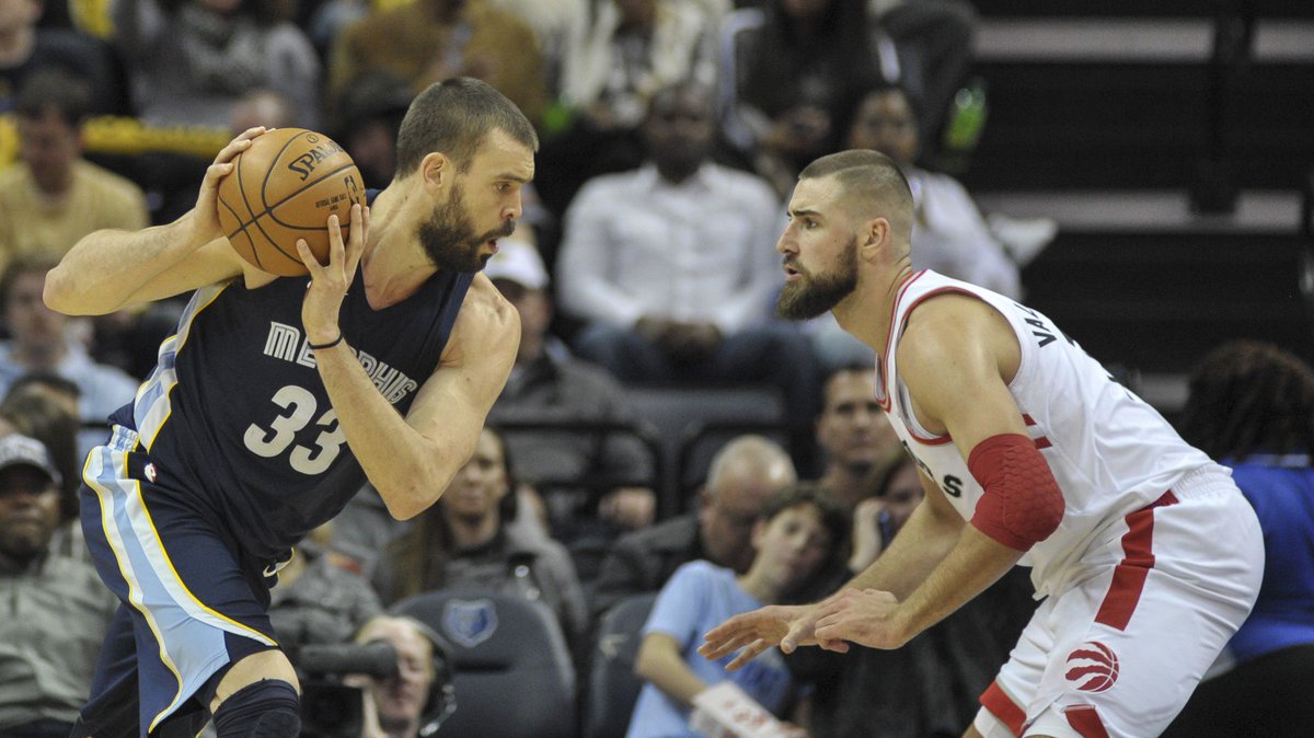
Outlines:
[{"label": "white-jersey player's nearer forearm, just below his red elbow sleeve", "polygon": [[993,584],[1024,553],[964,525],[949,555],[901,599],[896,619],[905,624],[909,637],[921,633]]}]

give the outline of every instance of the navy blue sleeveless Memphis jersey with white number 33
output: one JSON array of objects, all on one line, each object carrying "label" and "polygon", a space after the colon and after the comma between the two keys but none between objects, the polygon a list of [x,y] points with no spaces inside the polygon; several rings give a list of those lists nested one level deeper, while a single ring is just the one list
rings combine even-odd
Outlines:
[{"label": "navy blue sleeveless Memphis jersey with white number 33", "polygon": [[[472,278],[438,272],[373,310],[357,273],[339,324],[399,412],[438,366]],[[152,482],[226,523],[256,561],[280,557],[365,482],[306,345],[305,293],[300,278],[197,290],[134,403],[112,418],[139,432]]]}]

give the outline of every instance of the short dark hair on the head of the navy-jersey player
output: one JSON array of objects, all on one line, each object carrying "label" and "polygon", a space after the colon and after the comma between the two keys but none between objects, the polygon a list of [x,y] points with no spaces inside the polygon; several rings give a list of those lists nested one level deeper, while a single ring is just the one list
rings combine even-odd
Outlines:
[{"label": "short dark hair on the head of the navy-jersey player", "polygon": [[445,154],[464,172],[494,130],[539,150],[533,123],[493,85],[473,77],[434,83],[415,96],[402,119],[397,133],[397,173],[414,172],[434,151]]}]

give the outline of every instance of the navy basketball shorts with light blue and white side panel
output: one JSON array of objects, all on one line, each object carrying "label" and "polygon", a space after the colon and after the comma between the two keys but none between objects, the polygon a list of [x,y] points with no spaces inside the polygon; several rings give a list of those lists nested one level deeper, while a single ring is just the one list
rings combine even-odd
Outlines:
[{"label": "navy basketball shorts with light blue and white side panel", "polygon": [[145,737],[205,710],[212,678],[279,647],[261,567],[242,561],[217,513],[158,485],[160,471],[137,446],[134,431],[116,427],[83,469],[87,545],[122,603],[83,710],[96,738]]}]

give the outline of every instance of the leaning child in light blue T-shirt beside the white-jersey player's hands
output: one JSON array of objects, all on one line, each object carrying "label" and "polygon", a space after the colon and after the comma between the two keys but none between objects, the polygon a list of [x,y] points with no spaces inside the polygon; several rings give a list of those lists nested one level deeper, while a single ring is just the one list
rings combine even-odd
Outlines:
[{"label": "leaning child in light blue T-shirt beside the white-jersey player's hands", "polygon": [[746,573],[706,561],[681,566],[662,586],[643,629],[635,671],[646,683],[627,738],[699,735],[689,725],[692,700],[725,680],[777,717],[787,717],[800,688],[778,651],[727,672],[729,657],[708,661],[695,649],[703,633],[727,617],[790,599],[825,567],[848,532],[844,512],[815,487],[787,487],[753,523],[753,563]]}]

